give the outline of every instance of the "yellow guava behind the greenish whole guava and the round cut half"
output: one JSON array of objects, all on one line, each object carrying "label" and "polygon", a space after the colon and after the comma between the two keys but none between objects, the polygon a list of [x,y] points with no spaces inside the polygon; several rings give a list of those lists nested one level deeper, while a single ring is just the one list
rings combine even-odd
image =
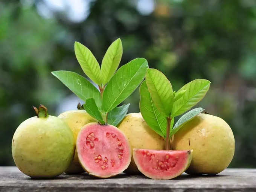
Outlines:
[{"label": "yellow guava behind the greenish whole guava and the round cut half", "polygon": [[[70,129],[73,132],[75,142],[79,131],[84,125],[91,122],[97,122],[97,120],[91,117],[85,110],[66,111],[64,113],[61,113],[58,117],[66,122],[67,125],[69,125]],[[84,169],[79,163],[76,150],[73,161],[65,172],[68,174],[77,174],[84,172]]]}]

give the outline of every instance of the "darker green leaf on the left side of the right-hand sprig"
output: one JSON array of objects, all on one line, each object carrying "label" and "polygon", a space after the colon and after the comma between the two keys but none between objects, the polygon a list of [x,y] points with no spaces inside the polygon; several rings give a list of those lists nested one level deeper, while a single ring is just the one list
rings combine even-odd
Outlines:
[{"label": "darker green leaf on the left side of the right-hand sprig", "polygon": [[140,113],[152,130],[162,137],[166,136],[166,116],[155,107],[145,81],[140,85]]}]

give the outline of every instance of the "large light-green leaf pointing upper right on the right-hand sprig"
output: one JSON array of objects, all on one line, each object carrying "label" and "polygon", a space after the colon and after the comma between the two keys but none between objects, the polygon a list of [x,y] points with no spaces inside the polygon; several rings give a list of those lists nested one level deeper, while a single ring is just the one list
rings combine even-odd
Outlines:
[{"label": "large light-green leaf pointing upper right on the right-hand sprig", "polygon": [[195,79],[180,88],[176,94],[187,90],[183,96],[174,102],[172,108],[172,117],[178,116],[201,101],[210,87],[210,81],[206,79]]}]

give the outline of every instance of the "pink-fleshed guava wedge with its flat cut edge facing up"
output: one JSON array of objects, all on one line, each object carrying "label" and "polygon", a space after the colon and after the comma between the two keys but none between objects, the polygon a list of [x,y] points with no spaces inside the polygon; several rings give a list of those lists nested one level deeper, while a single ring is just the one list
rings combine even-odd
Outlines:
[{"label": "pink-fleshed guava wedge with its flat cut edge facing up", "polygon": [[190,165],[192,150],[167,151],[133,149],[138,169],[152,179],[171,179],[182,174]]}]

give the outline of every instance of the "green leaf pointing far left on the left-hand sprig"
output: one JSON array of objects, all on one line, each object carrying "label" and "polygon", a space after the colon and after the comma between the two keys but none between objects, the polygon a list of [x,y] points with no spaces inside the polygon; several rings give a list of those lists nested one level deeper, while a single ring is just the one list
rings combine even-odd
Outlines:
[{"label": "green leaf pointing far left on the left-hand sprig", "polygon": [[82,100],[86,101],[87,98],[94,98],[96,105],[101,108],[101,93],[83,76],[70,71],[54,71],[52,75],[58,78]]}]

